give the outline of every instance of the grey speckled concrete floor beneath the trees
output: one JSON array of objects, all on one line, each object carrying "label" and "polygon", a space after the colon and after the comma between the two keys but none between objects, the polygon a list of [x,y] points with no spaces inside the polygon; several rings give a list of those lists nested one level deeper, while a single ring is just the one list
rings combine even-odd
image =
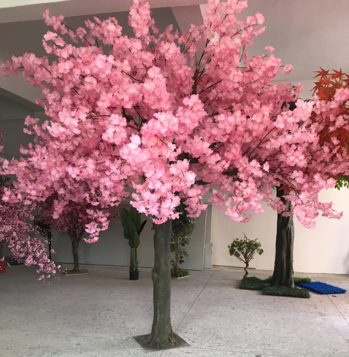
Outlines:
[{"label": "grey speckled concrete floor beneath the trees", "polygon": [[[69,268],[65,265],[65,268]],[[191,347],[146,354],[132,338],[152,323],[150,269],[86,266],[50,284],[35,269],[0,274],[0,356],[347,357],[349,294],[310,299],[239,290],[242,270],[191,272],[172,281],[174,331]],[[251,270],[268,277],[270,271]],[[298,274],[349,290],[349,275]]]}]

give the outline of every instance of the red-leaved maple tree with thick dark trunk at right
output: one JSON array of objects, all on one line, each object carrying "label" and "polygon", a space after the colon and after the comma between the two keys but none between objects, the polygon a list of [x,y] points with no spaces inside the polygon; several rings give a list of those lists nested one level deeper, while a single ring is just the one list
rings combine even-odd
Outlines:
[{"label": "red-leaved maple tree with thick dark trunk at right", "polygon": [[[314,100],[317,102],[312,110],[312,121],[319,125],[319,143],[327,144],[328,150],[336,153],[338,157],[346,155],[348,150],[348,132],[349,132],[349,75],[342,70],[332,73],[320,68],[317,71],[317,82],[314,86]],[[297,106],[295,102],[289,102],[290,110]],[[321,109],[319,110],[319,108]],[[344,150],[344,152],[343,152]],[[335,178],[336,188],[349,187],[348,176],[345,172],[327,171],[329,178]],[[286,212],[279,212],[277,216],[276,232],[276,252],[274,262],[274,272],[271,284],[273,286],[294,287],[293,278],[293,244],[294,244],[294,223],[292,202],[287,200],[287,187],[278,186],[276,188],[277,197],[286,206]]]}]

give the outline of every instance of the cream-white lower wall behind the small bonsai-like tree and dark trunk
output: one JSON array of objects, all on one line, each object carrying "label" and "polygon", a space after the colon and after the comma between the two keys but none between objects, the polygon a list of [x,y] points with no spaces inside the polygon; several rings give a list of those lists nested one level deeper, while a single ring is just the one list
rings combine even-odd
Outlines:
[{"label": "cream-white lower wall behind the small bonsai-like tree and dark trunk", "polygon": [[[340,220],[317,217],[314,230],[301,226],[295,218],[294,271],[308,273],[349,274],[349,190],[322,191],[320,200],[334,203],[337,211],[344,211]],[[266,207],[266,213],[252,215],[248,223],[231,222],[224,211],[213,208],[212,249],[213,264],[243,266],[236,257],[229,255],[228,245],[233,238],[259,238],[264,253],[256,256],[250,267],[273,270],[276,240],[277,213]]]}]

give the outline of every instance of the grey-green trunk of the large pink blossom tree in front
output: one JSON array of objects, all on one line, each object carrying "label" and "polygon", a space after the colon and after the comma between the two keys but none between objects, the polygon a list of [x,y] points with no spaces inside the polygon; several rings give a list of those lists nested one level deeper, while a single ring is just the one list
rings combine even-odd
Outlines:
[{"label": "grey-green trunk of the large pink blossom tree in front", "polygon": [[171,326],[171,267],[170,242],[171,220],[153,224],[155,261],[152,271],[154,286],[154,318],[152,332],[145,337],[148,347],[170,347],[176,345]]}]

